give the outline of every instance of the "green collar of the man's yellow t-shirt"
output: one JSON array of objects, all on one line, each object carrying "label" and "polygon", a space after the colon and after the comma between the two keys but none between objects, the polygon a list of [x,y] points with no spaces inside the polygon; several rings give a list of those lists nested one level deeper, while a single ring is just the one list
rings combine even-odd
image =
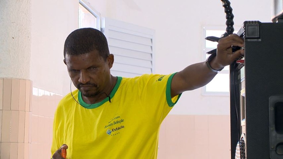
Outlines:
[{"label": "green collar of the man's yellow t-shirt", "polygon": [[[121,81],[122,81],[122,77],[117,77],[116,85],[114,86],[113,90],[111,91],[111,93],[109,95],[110,99],[112,99],[112,97],[115,95],[117,89],[119,88],[119,85],[120,85]],[[97,107],[101,106],[102,104],[104,104],[106,101],[108,101],[108,97],[107,97],[107,98],[103,99],[102,101],[100,101],[98,103],[94,103],[91,106],[89,106],[89,104],[87,104],[87,103],[85,103],[85,101],[83,101],[83,97],[82,97],[81,91],[79,91],[78,98],[79,98],[79,103],[84,108],[87,108],[87,109],[97,108]]]}]

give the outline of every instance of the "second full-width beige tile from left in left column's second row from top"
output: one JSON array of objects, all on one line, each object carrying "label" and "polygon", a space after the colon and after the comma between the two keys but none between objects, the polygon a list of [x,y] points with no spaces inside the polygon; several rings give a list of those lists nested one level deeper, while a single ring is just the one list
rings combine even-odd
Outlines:
[{"label": "second full-width beige tile from left in left column's second row from top", "polygon": [[12,110],[10,142],[18,142],[19,137],[19,111]]}]

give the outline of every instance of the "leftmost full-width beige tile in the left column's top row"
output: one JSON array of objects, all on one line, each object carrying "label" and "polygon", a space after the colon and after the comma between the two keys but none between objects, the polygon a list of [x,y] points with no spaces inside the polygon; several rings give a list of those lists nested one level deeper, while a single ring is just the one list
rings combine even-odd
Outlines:
[{"label": "leftmost full-width beige tile in the left column's top row", "polygon": [[11,110],[12,78],[3,79],[3,110]]}]

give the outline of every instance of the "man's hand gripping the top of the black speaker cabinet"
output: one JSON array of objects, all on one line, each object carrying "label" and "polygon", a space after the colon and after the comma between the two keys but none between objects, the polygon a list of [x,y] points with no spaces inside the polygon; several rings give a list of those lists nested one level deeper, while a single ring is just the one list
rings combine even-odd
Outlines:
[{"label": "man's hand gripping the top of the black speaker cabinet", "polygon": [[232,46],[244,47],[244,40],[236,34],[231,34],[218,41],[216,57],[210,62],[213,69],[220,70],[244,54],[241,49],[233,53]]}]

